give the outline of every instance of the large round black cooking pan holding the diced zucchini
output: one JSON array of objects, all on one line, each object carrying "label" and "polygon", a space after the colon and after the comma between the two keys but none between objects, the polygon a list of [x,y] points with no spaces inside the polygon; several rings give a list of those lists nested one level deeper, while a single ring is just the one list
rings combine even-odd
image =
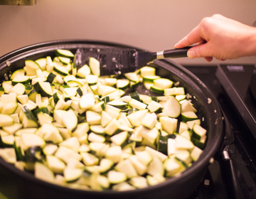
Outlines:
[{"label": "large round black cooking pan holding the diced zucchini", "polygon": [[[54,57],[58,48],[71,50],[77,48],[101,47],[132,48],[117,43],[100,41],[50,41],[30,45],[14,50],[0,58],[0,77],[23,68],[26,59],[36,60],[48,55]],[[137,49],[139,50],[139,49]],[[9,65],[9,66],[8,66]],[[191,72],[172,60],[156,60],[151,66],[156,68],[157,75],[170,78],[185,87],[192,97],[192,103],[198,110],[202,127],[208,129],[208,141],[201,157],[186,169],[181,176],[170,178],[159,185],[125,192],[87,191],[66,188],[36,179],[33,174],[19,171],[0,158],[0,191],[9,198],[188,198],[203,181],[208,165],[220,152],[224,138],[223,114],[217,100],[210,93],[206,85],[198,80]],[[145,92],[141,87],[139,92]],[[150,94],[146,92],[146,94]]]}]

